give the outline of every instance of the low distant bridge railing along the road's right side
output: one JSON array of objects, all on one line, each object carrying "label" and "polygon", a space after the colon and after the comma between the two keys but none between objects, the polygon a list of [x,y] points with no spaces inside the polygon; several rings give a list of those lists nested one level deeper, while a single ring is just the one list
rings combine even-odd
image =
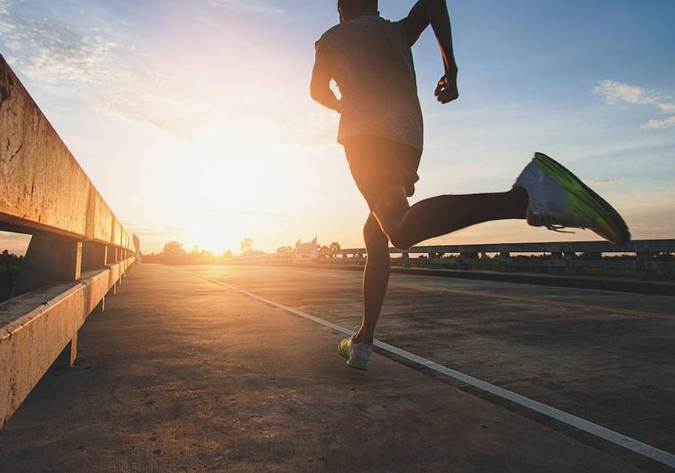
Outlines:
[{"label": "low distant bridge railing along the road's right side", "polygon": [[[324,251],[321,256],[324,261],[329,258],[334,263],[354,265],[364,263],[366,253],[366,249],[338,249]],[[401,255],[402,265],[411,265],[412,256],[417,256],[416,265],[451,269],[549,268],[568,274],[581,269],[604,269],[633,271],[644,278],[657,272],[675,272],[675,259],[660,257],[675,254],[675,240],[639,240],[622,246],[604,241],[420,246],[390,248],[389,253]]]}]

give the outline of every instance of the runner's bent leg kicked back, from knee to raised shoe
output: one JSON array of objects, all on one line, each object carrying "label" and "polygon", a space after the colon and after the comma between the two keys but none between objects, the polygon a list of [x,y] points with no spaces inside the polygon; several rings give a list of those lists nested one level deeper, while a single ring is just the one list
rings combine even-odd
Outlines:
[{"label": "runner's bent leg kicked back, from knee to raised shoe", "polygon": [[442,195],[408,205],[403,185],[379,193],[375,216],[389,240],[399,249],[429,238],[492,220],[527,219],[549,230],[589,229],[606,241],[622,245],[630,230],[606,200],[556,160],[540,152],[525,167],[509,192]]}]

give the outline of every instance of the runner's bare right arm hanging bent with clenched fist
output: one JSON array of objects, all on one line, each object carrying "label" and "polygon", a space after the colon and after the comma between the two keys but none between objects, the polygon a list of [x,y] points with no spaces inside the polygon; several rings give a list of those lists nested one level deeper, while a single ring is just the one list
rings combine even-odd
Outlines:
[{"label": "runner's bare right arm hanging bent with clenched fist", "polygon": [[450,14],[445,0],[419,0],[406,18],[409,40],[413,45],[431,25],[434,29],[436,40],[441,48],[443,56],[443,69],[445,75],[438,81],[435,95],[438,102],[448,103],[459,97],[457,91],[457,63],[452,50],[452,29],[450,25]]}]

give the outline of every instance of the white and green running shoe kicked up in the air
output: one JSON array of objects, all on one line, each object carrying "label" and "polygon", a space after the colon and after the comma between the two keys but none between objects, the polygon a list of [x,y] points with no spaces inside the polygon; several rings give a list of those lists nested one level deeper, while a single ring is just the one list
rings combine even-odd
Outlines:
[{"label": "white and green running shoe kicked up in the air", "polygon": [[534,153],[533,161],[518,176],[514,187],[524,188],[530,196],[528,224],[554,232],[588,228],[614,245],[630,241],[630,231],[619,212],[545,154]]}]

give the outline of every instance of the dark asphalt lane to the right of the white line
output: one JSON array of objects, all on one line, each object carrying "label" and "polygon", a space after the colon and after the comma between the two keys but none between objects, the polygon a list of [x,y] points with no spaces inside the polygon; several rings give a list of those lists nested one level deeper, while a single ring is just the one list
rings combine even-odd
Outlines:
[{"label": "dark asphalt lane to the right of the white line", "polygon": [[[361,273],[185,268],[354,329]],[[378,339],[675,452],[675,298],[392,275]]]}]

